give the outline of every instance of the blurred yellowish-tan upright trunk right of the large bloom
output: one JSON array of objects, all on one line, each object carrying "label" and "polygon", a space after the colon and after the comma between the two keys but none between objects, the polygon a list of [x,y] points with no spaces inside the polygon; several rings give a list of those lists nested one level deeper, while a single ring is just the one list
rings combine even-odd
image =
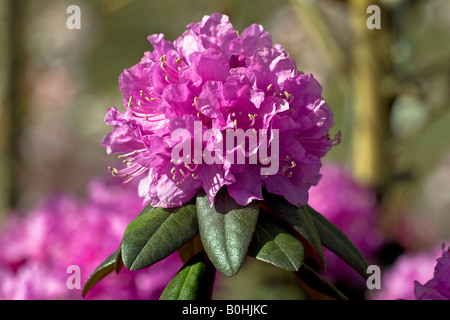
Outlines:
[{"label": "blurred yellowish-tan upright trunk right of the large bloom", "polygon": [[[380,189],[385,182],[388,163],[386,138],[388,110],[382,97],[381,82],[386,71],[385,50],[389,26],[382,19],[381,29],[369,29],[367,8],[377,4],[373,0],[350,0],[353,30],[353,132],[352,168],[356,180]],[[380,6],[381,7],[381,6]],[[381,16],[387,14],[381,10]]]}]

